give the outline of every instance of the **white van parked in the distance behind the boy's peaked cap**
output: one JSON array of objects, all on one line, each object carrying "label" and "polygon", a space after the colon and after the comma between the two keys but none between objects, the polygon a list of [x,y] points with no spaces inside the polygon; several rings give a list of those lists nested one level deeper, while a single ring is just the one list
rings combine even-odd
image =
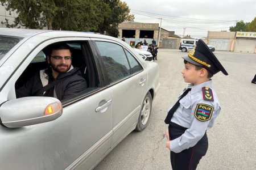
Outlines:
[{"label": "white van parked in the distance behind the boy's peaked cap", "polygon": [[[188,52],[196,46],[197,41],[197,39],[181,39],[179,50],[181,50],[181,52]],[[212,52],[215,51],[214,46],[208,45],[208,47]]]}]

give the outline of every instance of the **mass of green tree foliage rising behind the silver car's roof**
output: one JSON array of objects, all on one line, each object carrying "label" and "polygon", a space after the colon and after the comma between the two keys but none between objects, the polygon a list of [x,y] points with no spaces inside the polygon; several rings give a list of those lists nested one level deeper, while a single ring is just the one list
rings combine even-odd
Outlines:
[{"label": "mass of green tree foliage rising behind the silver car's roof", "polygon": [[120,0],[0,0],[6,10],[15,11],[14,24],[26,28],[98,31],[118,35],[118,24],[134,20],[130,9]]}]

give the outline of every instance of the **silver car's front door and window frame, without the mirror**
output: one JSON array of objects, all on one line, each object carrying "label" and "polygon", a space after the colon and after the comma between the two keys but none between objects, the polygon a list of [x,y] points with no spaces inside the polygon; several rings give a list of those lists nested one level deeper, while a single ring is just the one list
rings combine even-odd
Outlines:
[{"label": "silver car's front door and window frame, without the mirror", "polygon": [[[9,73],[12,73],[6,82],[1,83],[4,85],[1,87],[0,99],[15,100],[15,82],[47,45],[60,41],[88,40],[82,37],[52,39],[51,35],[42,34],[23,42],[1,66],[11,68]],[[86,57],[94,61],[95,56],[92,54]],[[97,75],[101,79],[101,73]],[[111,145],[112,100],[110,89],[99,84],[65,101],[63,114],[57,120],[15,129],[0,126],[1,169],[91,168]],[[33,109],[33,103],[30,108],[21,105],[20,109]]]}]

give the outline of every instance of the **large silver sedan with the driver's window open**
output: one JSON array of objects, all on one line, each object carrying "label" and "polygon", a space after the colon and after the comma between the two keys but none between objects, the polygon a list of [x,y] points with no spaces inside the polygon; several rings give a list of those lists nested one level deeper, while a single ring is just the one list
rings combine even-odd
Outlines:
[{"label": "large silver sedan with the driver's window open", "polygon": [[[88,88],[72,99],[21,97],[65,42]],[[84,32],[0,28],[1,169],[93,169],[131,131],[148,125],[159,68],[125,42]]]}]

